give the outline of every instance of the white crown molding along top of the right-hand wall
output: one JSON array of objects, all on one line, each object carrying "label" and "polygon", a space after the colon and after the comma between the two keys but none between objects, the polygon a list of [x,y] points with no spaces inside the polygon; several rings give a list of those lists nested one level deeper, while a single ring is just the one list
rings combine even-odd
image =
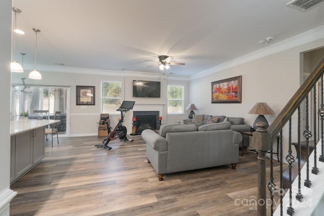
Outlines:
[{"label": "white crown molding along top of the right-hand wall", "polygon": [[289,50],[294,47],[298,47],[304,44],[307,44],[308,42],[312,42],[318,39],[324,38],[324,25],[319,26],[317,28],[314,28],[309,31],[305,31],[301,34],[298,34],[296,36],[290,37],[288,39],[282,40],[277,42],[276,44],[273,44],[269,47],[262,48],[260,50],[254,51],[252,53],[249,53],[247,55],[238,57],[236,59],[233,59],[231,61],[225,62],[223,64],[217,65],[215,67],[212,67],[208,70],[199,72],[197,74],[194,74],[190,76],[190,80],[197,79],[203,76],[207,76],[234,66],[238,66],[253,60],[257,60],[275,53],[279,53],[285,50]]}]

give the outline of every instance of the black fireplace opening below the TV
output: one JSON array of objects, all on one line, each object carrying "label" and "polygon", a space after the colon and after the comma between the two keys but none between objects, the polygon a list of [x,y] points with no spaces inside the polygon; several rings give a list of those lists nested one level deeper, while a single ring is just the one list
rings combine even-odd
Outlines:
[{"label": "black fireplace opening below the TV", "polygon": [[133,111],[136,117],[136,135],[141,135],[144,129],[158,129],[159,111]]}]

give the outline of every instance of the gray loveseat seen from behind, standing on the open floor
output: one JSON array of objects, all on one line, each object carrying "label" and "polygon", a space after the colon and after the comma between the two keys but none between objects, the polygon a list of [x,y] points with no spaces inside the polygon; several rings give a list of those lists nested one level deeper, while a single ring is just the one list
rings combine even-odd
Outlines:
[{"label": "gray loveseat seen from behind, standing on the open floor", "polygon": [[[193,122],[194,123],[194,122]],[[146,156],[163,180],[164,174],[238,162],[242,135],[230,129],[229,121],[209,124],[164,124],[159,134],[142,132]]]}]

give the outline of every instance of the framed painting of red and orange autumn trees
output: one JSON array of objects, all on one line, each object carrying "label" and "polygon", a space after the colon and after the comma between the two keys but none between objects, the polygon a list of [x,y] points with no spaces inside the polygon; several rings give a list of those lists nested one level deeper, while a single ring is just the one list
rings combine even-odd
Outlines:
[{"label": "framed painting of red and orange autumn trees", "polygon": [[212,82],[212,103],[241,103],[242,76]]}]

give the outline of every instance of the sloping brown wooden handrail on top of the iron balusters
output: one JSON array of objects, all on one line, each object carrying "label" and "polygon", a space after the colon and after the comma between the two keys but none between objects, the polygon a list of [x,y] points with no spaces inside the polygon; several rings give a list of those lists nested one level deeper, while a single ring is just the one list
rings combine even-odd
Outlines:
[{"label": "sloping brown wooden handrail on top of the iron balusters", "polygon": [[301,86],[294,94],[294,96],[290,99],[290,101],[286,104],[286,106],[281,110],[281,112],[269,125],[267,130],[268,133],[271,134],[271,140],[273,140],[280,132],[282,127],[285,126],[289,118],[294,114],[298,106],[306,98],[306,95],[309,93],[309,91],[311,91],[311,89],[314,87],[315,83],[323,75],[323,73],[324,73],[324,58],[318,63],[318,65],[308,76],[308,78],[301,84]]}]

